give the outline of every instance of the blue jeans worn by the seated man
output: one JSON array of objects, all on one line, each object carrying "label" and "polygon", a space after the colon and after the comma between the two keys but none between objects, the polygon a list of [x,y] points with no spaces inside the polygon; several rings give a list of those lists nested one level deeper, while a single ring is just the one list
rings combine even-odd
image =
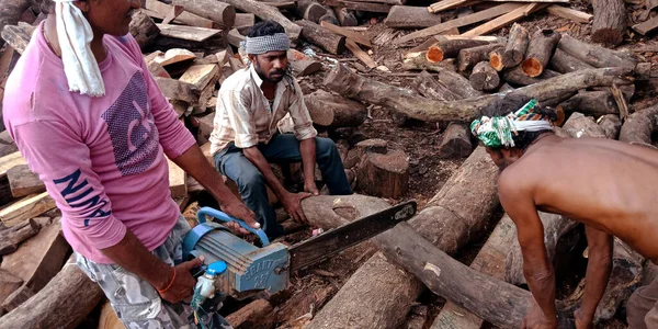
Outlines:
[{"label": "blue jeans worn by the seated man", "polygon": [[[300,162],[299,141],[292,134],[275,135],[269,144],[259,144],[258,149],[269,162]],[[283,227],[276,223],[274,209],[268,202],[266,181],[263,174],[245,157],[242,149],[232,143],[214,157],[215,168],[236,182],[242,202],[256,213],[258,222],[271,239],[283,235]],[[333,195],[352,194],[340,155],[333,140],[316,137],[316,161],[322,172],[322,180]]]}]

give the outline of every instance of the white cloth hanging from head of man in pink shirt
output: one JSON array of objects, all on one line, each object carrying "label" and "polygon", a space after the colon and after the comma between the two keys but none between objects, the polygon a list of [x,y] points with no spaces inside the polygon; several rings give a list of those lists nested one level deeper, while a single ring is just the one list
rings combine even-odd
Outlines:
[{"label": "white cloth hanging from head of man in pink shirt", "polygon": [[103,77],[90,47],[93,31],[82,11],[72,4],[78,0],[53,1],[56,2],[57,39],[69,90],[91,97],[105,95]]}]

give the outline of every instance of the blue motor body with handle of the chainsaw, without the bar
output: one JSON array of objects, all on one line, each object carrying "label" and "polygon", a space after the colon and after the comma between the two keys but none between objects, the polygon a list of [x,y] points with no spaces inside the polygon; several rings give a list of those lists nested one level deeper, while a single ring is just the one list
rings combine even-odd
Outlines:
[{"label": "blue motor body with handle of the chainsaw, without the bar", "polygon": [[219,291],[235,295],[260,290],[276,293],[286,287],[288,282],[286,246],[270,243],[261,229],[256,230],[240,220],[242,227],[248,227],[260,237],[264,247],[258,248],[234,236],[224,226],[206,222],[205,215],[223,222],[234,220],[232,217],[217,209],[209,207],[200,209],[200,225],[194,227],[183,240],[183,257],[190,259],[203,256],[206,265],[225,261],[227,270],[219,275],[217,283]]}]

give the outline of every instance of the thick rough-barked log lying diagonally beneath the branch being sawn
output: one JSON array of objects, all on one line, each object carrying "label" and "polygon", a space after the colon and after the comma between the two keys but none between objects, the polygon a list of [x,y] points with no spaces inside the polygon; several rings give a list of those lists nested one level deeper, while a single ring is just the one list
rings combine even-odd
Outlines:
[{"label": "thick rough-barked log lying diagonally beneath the branch being sawn", "polygon": [[[477,148],[409,224],[430,239],[430,246],[454,253],[484,231],[487,219],[498,207],[498,171],[485,149]],[[382,247],[390,245],[392,239],[397,240],[395,232],[388,232],[376,237],[375,243]],[[400,271],[386,258],[377,253],[366,261],[320,309],[308,328],[397,328],[401,325],[423,287],[412,274]]]}]

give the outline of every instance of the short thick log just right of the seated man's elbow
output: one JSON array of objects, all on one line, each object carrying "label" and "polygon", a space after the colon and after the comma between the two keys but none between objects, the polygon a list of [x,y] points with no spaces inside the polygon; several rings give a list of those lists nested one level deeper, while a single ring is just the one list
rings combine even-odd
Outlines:
[{"label": "short thick log just right of the seated man's elbow", "polygon": [[367,110],[360,102],[317,90],[304,97],[314,124],[338,128],[358,127],[363,124]]}]

